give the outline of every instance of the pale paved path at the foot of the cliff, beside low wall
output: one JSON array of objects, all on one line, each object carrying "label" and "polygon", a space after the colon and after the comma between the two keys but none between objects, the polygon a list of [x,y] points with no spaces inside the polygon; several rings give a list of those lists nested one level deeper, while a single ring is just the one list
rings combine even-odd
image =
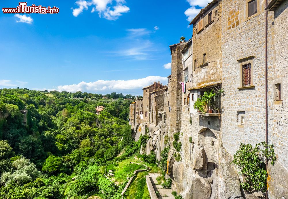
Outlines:
[{"label": "pale paved path at the foot of the cliff, beside low wall", "polygon": [[172,189],[164,189],[162,185],[158,185],[156,178],[160,176],[159,173],[149,173],[153,188],[158,195],[158,199],[174,199],[172,195]]}]

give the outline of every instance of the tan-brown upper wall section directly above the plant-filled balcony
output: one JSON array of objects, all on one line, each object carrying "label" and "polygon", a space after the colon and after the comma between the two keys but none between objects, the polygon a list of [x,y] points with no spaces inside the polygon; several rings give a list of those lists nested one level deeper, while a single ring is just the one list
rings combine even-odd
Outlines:
[{"label": "tan-brown upper wall section directly above the plant-filled balcony", "polygon": [[[216,10],[217,15],[215,15]],[[212,22],[208,24],[210,12],[212,12]],[[204,16],[193,24],[193,62],[197,60],[197,68],[192,73],[192,82],[190,83],[192,88],[221,82],[222,1],[215,3],[203,14]],[[202,31],[198,25],[200,22],[203,24]],[[206,53],[205,63],[203,63],[204,53]]]}]

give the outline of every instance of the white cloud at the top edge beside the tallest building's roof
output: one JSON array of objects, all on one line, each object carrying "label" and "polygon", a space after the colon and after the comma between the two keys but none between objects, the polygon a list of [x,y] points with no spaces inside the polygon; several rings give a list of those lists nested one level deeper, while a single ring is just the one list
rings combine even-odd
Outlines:
[{"label": "white cloud at the top edge beside the tallest building's roof", "polygon": [[[201,11],[201,8],[206,7],[208,3],[211,3],[211,0],[187,0],[190,4],[190,8],[185,10],[184,14],[187,16],[187,21],[191,22],[194,17]],[[196,8],[196,7],[200,8]]]}]

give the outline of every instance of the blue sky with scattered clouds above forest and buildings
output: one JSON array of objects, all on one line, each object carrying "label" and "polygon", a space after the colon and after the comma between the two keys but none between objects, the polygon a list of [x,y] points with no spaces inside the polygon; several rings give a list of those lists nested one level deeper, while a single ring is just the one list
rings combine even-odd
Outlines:
[{"label": "blue sky with scattered clouds above forest and buildings", "polygon": [[[0,88],[141,94],[170,75],[169,45],[209,0],[27,1],[58,14],[0,12]],[[1,1],[17,7],[19,1]]]}]

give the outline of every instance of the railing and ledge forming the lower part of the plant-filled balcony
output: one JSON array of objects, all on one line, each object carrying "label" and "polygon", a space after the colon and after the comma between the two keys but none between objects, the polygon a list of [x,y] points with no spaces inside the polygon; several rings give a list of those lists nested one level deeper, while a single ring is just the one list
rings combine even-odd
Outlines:
[{"label": "railing and ledge forming the lower part of the plant-filled balcony", "polygon": [[208,101],[207,103],[203,103],[203,106],[197,109],[197,114],[203,116],[220,116],[221,101]]}]

